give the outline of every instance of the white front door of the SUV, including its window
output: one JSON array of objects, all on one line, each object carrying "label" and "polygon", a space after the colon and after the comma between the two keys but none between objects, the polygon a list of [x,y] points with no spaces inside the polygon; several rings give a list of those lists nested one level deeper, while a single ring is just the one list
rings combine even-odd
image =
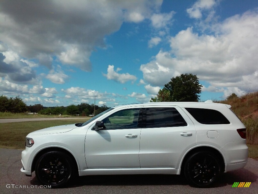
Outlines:
[{"label": "white front door of the SUV, including its window", "polygon": [[88,129],[85,138],[88,169],[140,168],[139,112],[140,107],[118,110],[101,119],[106,129]]}]

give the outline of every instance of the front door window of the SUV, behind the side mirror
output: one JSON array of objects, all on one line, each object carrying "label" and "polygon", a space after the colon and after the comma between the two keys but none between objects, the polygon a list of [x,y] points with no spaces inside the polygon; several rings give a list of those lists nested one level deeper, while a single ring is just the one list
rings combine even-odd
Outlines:
[{"label": "front door window of the SUV, behind the side mirror", "polygon": [[106,130],[137,128],[139,112],[139,108],[119,110],[102,121]]}]

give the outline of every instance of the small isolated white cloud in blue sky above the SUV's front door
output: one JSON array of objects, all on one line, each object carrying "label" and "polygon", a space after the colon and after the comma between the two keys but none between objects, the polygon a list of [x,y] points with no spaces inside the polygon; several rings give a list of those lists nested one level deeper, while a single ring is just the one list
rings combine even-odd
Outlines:
[{"label": "small isolated white cloud in blue sky above the SUV's front door", "polygon": [[120,82],[121,84],[124,84],[127,81],[135,81],[137,79],[135,76],[130,75],[129,73],[118,73],[118,71],[120,70],[120,68],[117,68],[115,71],[114,65],[108,65],[108,73],[103,75],[107,77],[107,79],[115,80],[117,82]]}]

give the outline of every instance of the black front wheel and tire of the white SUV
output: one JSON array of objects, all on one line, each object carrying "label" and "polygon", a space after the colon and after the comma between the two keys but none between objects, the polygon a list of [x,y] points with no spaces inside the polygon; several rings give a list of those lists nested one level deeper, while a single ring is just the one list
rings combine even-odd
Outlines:
[{"label": "black front wheel and tire of the white SUV", "polygon": [[35,174],[43,185],[51,185],[51,188],[65,186],[71,177],[76,175],[73,161],[69,155],[59,151],[50,151],[39,157]]}]

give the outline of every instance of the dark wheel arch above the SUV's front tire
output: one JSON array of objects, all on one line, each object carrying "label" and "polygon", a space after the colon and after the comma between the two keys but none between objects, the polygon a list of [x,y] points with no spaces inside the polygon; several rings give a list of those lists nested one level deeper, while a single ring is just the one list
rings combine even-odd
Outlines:
[{"label": "dark wheel arch above the SUV's front tire", "polygon": [[39,157],[42,154],[44,154],[46,152],[50,152],[50,151],[59,151],[59,152],[63,152],[63,153],[66,153],[67,155],[69,155],[71,157],[71,159],[73,160],[74,164],[76,164],[77,169],[79,171],[79,169],[80,169],[79,162],[76,160],[74,154],[70,150],[68,150],[67,148],[62,147],[62,146],[55,146],[55,147],[51,146],[51,147],[44,147],[36,153],[36,155],[33,158],[33,162],[31,164],[31,172],[35,171],[35,166],[36,166],[36,163],[37,163]]}]

